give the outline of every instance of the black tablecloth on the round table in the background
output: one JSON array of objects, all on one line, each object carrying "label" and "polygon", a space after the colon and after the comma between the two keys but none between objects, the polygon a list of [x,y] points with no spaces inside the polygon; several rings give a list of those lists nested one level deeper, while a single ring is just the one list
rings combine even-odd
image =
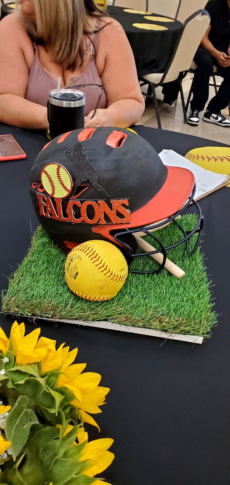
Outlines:
[{"label": "black tablecloth on the round table in the background", "polygon": [[[147,20],[143,15],[124,12],[123,7],[107,7],[109,16],[115,18],[123,27],[131,45],[138,76],[151,72],[164,72],[170,56],[182,32],[182,24]],[[156,16],[157,14],[153,14]],[[157,24],[167,27],[168,30],[152,31],[134,27],[134,23]],[[122,53],[121,53],[122,55]]]}]

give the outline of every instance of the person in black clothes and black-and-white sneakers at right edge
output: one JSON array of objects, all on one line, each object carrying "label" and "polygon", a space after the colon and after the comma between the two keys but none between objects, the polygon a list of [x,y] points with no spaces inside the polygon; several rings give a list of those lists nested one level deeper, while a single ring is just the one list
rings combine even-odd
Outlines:
[{"label": "person in black clothes and black-and-white sneakers at right edge", "polygon": [[209,80],[215,65],[223,82],[209,102],[202,119],[222,127],[230,127],[230,120],[221,113],[230,103],[230,0],[209,0],[205,8],[210,14],[211,22],[194,57],[197,68],[194,73],[188,123],[199,123],[200,112],[208,101]]}]

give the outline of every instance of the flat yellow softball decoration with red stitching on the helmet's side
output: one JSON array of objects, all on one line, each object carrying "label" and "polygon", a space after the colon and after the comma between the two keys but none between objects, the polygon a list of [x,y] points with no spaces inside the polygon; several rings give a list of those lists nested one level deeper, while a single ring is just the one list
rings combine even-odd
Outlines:
[{"label": "flat yellow softball decoration with red stitching on the helmet's side", "polygon": [[64,199],[72,190],[72,178],[68,170],[59,163],[48,163],[41,171],[41,183],[52,197]]}]

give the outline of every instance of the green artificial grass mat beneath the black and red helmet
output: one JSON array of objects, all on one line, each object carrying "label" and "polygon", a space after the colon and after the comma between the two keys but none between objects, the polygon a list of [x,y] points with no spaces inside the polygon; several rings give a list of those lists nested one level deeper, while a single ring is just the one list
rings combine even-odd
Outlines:
[{"label": "green artificial grass mat beneath the black and red helmet", "polygon": [[[195,222],[194,214],[186,214],[180,221],[185,230],[191,230]],[[176,224],[155,234],[165,246],[181,239]],[[195,238],[196,235],[190,244]],[[145,239],[157,247],[151,237]],[[90,302],[69,289],[64,276],[66,254],[38,226],[25,259],[11,276],[7,293],[2,295],[2,311],[88,322],[104,320],[169,333],[210,337],[216,314],[212,311],[211,282],[208,282],[200,249],[192,257],[187,257],[184,244],[181,244],[168,251],[167,257],[185,271],[182,279],[166,270],[158,275],[129,273],[122,290],[113,299]],[[156,267],[149,256],[134,259],[133,269],[134,266],[140,270]]]}]

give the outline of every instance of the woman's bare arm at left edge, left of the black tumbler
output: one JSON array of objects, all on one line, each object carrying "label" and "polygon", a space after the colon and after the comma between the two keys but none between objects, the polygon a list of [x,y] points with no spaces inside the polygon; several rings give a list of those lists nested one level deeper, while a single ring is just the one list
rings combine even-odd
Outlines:
[{"label": "woman's bare arm at left edge, left of the black tumbler", "polygon": [[47,109],[25,99],[29,69],[22,46],[27,47],[28,40],[18,14],[1,20],[0,121],[19,128],[46,129]]}]

